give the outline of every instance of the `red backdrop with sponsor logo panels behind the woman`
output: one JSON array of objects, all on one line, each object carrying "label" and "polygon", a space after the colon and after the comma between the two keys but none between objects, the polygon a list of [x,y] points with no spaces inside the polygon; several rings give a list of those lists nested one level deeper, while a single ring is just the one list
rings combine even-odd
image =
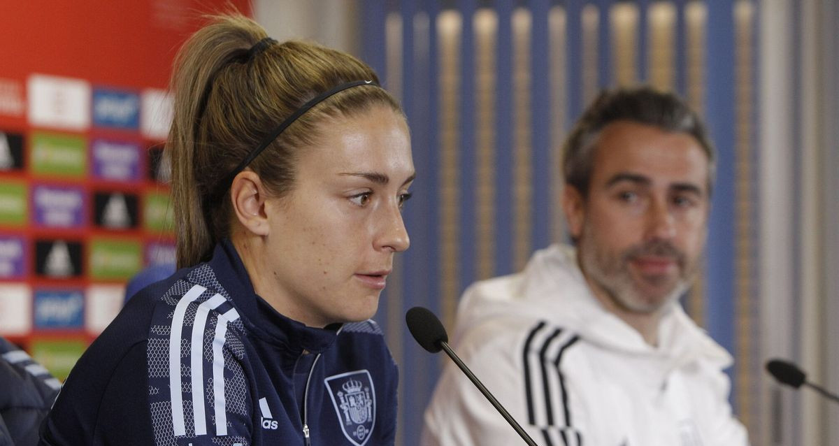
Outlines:
[{"label": "red backdrop with sponsor logo panels behind the woman", "polygon": [[0,334],[63,377],[173,259],[166,86],[202,14],[247,0],[0,3]]}]

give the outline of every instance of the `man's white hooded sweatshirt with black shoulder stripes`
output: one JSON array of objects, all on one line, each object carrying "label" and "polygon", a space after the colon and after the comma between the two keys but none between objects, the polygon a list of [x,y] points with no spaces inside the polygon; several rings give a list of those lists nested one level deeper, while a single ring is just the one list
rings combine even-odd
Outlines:
[{"label": "man's white hooded sweatshirt with black shoulder stripes", "polygon": [[[659,345],[645,343],[591,295],[571,247],[468,288],[451,344],[539,445],[748,444],[727,401],[731,355],[678,303],[664,310]],[[448,361],[421,444],[524,441]]]}]

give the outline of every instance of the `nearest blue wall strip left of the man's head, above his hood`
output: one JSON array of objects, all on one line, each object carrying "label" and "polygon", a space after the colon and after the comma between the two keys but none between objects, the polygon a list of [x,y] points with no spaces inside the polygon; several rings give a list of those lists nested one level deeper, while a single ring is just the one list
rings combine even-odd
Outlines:
[{"label": "nearest blue wall strip left of the man's head, above his hood", "polygon": [[550,147],[550,59],[548,16],[549,0],[531,0],[530,38],[530,122],[531,122],[531,172],[533,179],[533,223],[531,248],[542,248],[550,243],[551,215],[553,215],[551,185],[558,166],[551,163]]}]

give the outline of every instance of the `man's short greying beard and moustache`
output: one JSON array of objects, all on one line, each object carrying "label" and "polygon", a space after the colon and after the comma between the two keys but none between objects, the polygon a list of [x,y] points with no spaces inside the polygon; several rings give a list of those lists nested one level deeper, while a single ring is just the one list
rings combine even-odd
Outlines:
[{"label": "man's short greying beard and moustache", "polygon": [[[630,246],[623,252],[613,253],[600,244],[586,222],[578,243],[583,271],[608,298],[624,311],[653,314],[685,293],[696,275],[698,257],[689,259],[668,241],[653,240]],[[677,274],[633,276],[629,263],[644,256],[669,257],[675,260]],[[644,281],[657,290],[644,290],[638,281]]]}]

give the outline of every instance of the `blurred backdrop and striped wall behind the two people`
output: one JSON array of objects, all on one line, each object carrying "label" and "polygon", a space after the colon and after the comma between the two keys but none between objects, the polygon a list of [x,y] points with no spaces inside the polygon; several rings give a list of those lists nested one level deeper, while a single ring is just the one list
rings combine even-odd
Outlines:
[{"label": "blurred backdrop and striped wall behind the two people", "polygon": [[275,39],[356,54],[404,104],[412,246],[377,315],[401,369],[398,444],[418,443],[443,360],[404,312],[426,306],[451,331],[469,283],[565,241],[558,148],[600,88],[638,83],[685,96],[717,146],[706,264],[684,304],[735,356],[752,443],[839,444],[836,407],[763,372],[795,360],[839,391],[835,0],[4,2],[0,334],[56,376],[129,277],[174,261],[159,161],[171,61],[202,13],[231,6]]}]

